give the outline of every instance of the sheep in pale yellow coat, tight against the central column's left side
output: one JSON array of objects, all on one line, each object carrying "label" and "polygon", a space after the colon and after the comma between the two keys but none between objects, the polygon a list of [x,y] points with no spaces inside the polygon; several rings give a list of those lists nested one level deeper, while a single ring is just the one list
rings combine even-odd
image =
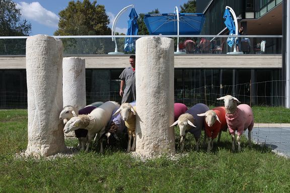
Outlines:
[{"label": "sheep in pale yellow coat, tight against the central column's left side", "polygon": [[[122,119],[125,122],[128,133],[128,146],[127,152],[134,151],[136,146],[136,134],[135,134],[135,119],[136,119],[136,107],[132,107],[129,103],[123,103],[120,108],[114,113],[114,115],[120,113]],[[133,143],[131,146],[131,139],[133,136]]]}]

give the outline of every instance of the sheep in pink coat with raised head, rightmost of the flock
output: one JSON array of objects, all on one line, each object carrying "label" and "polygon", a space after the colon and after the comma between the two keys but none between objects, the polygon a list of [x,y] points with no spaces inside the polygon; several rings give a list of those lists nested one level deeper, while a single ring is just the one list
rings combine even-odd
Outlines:
[{"label": "sheep in pink coat with raised head, rightmost of the flock", "polygon": [[226,108],[226,120],[229,132],[232,136],[232,151],[235,151],[235,131],[237,131],[238,151],[241,151],[241,135],[248,129],[249,145],[251,146],[251,135],[254,127],[254,116],[250,106],[241,103],[237,98],[231,95],[222,96],[216,100],[224,100]]}]

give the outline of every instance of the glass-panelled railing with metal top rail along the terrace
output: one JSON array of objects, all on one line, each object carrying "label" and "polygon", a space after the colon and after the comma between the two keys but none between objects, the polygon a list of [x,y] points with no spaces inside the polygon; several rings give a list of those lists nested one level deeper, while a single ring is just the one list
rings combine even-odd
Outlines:
[{"label": "glass-panelled railing with metal top rail along the terrace", "polygon": [[[26,53],[26,39],[29,36],[5,36],[0,37],[0,56],[19,56]],[[64,46],[63,55],[104,55],[114,54],[116,38],[118,54],[134,54],[124,51],[126,37],[142,38],[149,36],[53,36],[61,39]],[[281,54],[282,36],[281,35],[159,35],[158,37],[172,38],[177,50],[177,37],[179,37],[179,54],[227,54],[234,48],[227,44],[228,37],[239,39],[239,51],[244,54]],[[192,41],[186,41],[192,40]],[[205,40],[204,44],[201,40]],[[185,43],[190,42],[190,43]],[[264,43],[262,43],[264,42]]]}]

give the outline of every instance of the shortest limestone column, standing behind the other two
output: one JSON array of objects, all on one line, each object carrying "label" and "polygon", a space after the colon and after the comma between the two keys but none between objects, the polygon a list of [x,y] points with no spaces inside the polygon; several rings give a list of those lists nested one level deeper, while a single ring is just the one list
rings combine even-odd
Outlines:
[{"label": "shortest limestone column, standing behind the other two", "polygon": [[77,109],[86,106],[86,61],[68,57],[62,60],[63,107],[71,105]]}]

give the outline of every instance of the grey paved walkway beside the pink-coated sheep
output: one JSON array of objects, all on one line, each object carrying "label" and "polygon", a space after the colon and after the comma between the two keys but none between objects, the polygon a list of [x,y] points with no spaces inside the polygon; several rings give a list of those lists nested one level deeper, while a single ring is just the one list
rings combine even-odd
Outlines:
[{"label": "grey paved walkway beside the pink-coated sheep", "polygon": [[[248,130],[245,135],[248,136]],[[254,124],[252,140],[270,147],[278,154],[290,157],[290,124]]]}]

